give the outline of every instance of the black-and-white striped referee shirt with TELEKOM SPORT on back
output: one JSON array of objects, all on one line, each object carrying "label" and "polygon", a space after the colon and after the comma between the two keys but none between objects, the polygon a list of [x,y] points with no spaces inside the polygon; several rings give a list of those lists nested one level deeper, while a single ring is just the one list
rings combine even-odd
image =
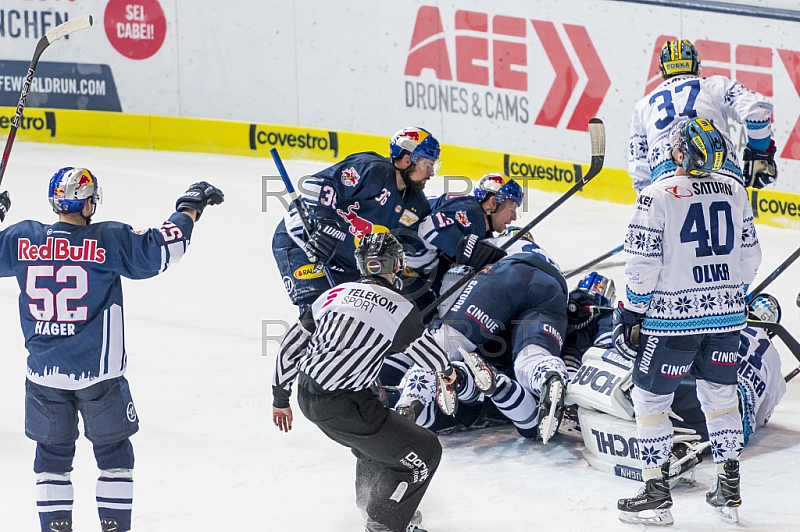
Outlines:
[{"label": "black-and-white striped referee shirt with TELEKOM SPORT on back", "polygon": [[298,372],[326,391],[368,388],[384,359],[405,351],[424,368],[443,371],[447,354],[422,324],[422,313],[383,278],[362,278],[322,294],[281,342],[273,406],[289,406]]}]

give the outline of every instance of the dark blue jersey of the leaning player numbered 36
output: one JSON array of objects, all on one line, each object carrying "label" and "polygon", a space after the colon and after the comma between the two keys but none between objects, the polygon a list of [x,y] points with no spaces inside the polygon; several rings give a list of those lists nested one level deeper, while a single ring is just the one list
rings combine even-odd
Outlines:
[{"label": "dark blue jersey of the leaning player numbered 36", "polygon": [[[330,264],[348,272],[357,271],[353,254],[365,234],[390,231],[401,241],[407,240],[430,212],[422,192],[397,188],[391,160],[375,152],[349,155],[310,176],[298,188],[309,213],[344,225],[347,238],[337,246]],[[276,233],[286,231],[305,248],[303,225],[294,206]]]}]

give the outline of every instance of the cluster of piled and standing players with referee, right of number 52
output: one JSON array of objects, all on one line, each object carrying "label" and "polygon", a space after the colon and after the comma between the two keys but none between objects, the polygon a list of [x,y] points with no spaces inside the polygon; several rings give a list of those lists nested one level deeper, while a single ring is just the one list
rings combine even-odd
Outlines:
[{"label": "cluster of piled and standing players with referee, right of number 52", "polygon": [[[707,501],[738,519],[741,448],[785,390],[771,339],[746,327],[748,313],[780,317],[775,298],[746,295],[761,251],[745,186],[777,177],[772,108],[736,81],[700,78],[688,41],[666,43],[661,67],[631,122],[639,197],[617,307],[602,275],[569,291],[529,234],[504,245],[523,198],[512,179],[486,175],[472,195],[428,201],[440,148],[425,129],[399,131],[389,158],[357,153],[305,181],[305,216],[291,210],[273,240],[300,308],[273,420],[290,430],[297,380],[306,417],[358,458],[368,532],[421,530],[441,447],[419,427],[502,418],[547,443],[565,413],[590,463],[645,481],[619,501],[623,521],[671,524],[670,489],[708,447],[718,477]],[[743,169],[729,118],[747,127]],[[461,292],[423,316],[462,275]]]}]

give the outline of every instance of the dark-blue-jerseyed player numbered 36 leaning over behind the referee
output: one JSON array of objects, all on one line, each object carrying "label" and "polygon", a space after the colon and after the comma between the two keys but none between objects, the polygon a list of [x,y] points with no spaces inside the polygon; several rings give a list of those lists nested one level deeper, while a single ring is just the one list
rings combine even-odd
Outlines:
[{"label": "dark-blue-jerseyed player numbered 36 leaning over behind the referee", "polygon": [[416,233],[430,212],[422,190],[439,167],[439,141],[420,127],[401,129],[389,142],[389,157],[349,155],[302,184],[311,234],[292,207],[278,224],[272,253],[292,303],[301,309],[330,285],[358,279],[353,252],[368,233]]}]

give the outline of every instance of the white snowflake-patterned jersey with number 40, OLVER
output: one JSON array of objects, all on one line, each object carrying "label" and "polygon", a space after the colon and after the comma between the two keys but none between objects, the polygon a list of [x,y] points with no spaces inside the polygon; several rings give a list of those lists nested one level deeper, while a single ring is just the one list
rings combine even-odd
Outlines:
[{"label": "white snowflake-patterned jersey with number 40, OLVER", "polygon": [[663,336],[738,330],[761,263],[753,212],[738,181],[672,176],[645,187],[625,236],[626,308]]}]

